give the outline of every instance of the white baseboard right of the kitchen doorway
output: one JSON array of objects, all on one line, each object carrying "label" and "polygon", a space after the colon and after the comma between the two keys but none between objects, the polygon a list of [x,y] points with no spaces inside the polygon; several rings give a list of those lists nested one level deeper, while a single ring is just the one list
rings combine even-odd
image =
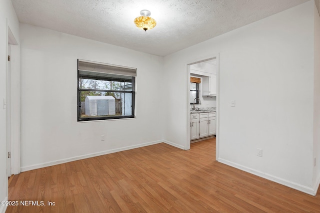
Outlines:
[{"label": "white baseboard right of the kitchen doorway", "polygon": [[275,183],[284,185],[286,187],[298,190],[300,192],[303,192],[303,193],[306,193],[306,194],[309,194],[309,195],[312,195],[312,196],[316,195],[316,190],[312,189],[311,187],[306,187],[306,186],[303,186],[303,185],[300,185],[300,184],[297,184],[297,183],[294,183],[294,182],[291,182],[291,181],[288,181],[288,180],[285,180],[285,179],[282,179],[282,178],[278,178],[278,177],[275,177],[275,176],[272,176],[272,175],[269,175],[269,174],[265,174],[265,173],[260,172],[258,170],[254,170],[254,169],[251,169],[251,168],[248,168],[248,167],[245,167],[245,166],[242,166],[242,165],[239,165],[239,164],[224,160],[222,158],[219,158],[218,162],[220,162],[222,164],[226,164],[226,165],[231,166],[231,167],[234,167],[236,169],[251,173],[253,175],[259,176],[259,177],[264,178],[264,179],[267,179],[269,181],[273,181]]}]

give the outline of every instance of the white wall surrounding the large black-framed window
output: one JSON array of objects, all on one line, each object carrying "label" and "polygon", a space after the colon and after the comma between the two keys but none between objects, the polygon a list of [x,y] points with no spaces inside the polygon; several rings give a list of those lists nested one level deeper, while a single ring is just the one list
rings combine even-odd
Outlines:
[{"label": "white wall surrounding the large black-framed window", "polygon": [[[162,57],[28,24],[20,42],[22,171],[161,141]],[[77,122],[77,58],[137,68],[135,119]]]}]

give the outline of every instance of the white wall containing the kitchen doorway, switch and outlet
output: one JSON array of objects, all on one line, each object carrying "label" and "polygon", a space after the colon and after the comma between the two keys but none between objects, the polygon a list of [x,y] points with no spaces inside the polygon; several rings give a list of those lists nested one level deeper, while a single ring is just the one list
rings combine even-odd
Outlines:
[{"label": "white wall containing the kitchen doorway, switch and outlet", "polygon": [[187,63],[219,53],[219,161],[313,194],[313,7],[308,1],[165,56],[164,138],[187,146],[187,80],[175,79],[187,79]]}]

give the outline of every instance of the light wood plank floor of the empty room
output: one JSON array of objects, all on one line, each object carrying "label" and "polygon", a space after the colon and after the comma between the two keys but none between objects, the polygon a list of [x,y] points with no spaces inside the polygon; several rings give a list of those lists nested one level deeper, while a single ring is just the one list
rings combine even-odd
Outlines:
[{"label": "light wood plank floor of the empty room", "polygon": [[23,172],[6,213],[320,212],[313,197],[215,161],[215,138],[188,151],[161,143]]}]

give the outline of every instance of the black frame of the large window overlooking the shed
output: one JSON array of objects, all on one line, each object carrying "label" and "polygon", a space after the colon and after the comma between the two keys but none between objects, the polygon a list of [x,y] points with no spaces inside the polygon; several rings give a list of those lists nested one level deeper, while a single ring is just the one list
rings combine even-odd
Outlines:
[{"label": "black frame of the large window overlooking the shed", "polygon": [[[79,62],[79,59],[77,59]],[[79,80],[82,77],[85,77],[85,75],[79,74],[79,63],[77,63],[77,121],[98,121],[98,120],[113,120],[113,119],[125,119],[125,118],[134,118],[134,108],[135,108],[135,76],[126,76],[126,75],[120,75],[119,76],[125,76],[122,79],[128,79],[130,77],[132,79],[132,91],[126,91],[126,90],[107,90],[107,89],[85,89],[85,88],[79,88]],[[108,64],[111,65],[111,64]],[[118,67],[118,65],[114,65],[114,67]],[[89,71],[90,72],[90,71]],[[93,71],[92,71],[93,72]],[[107,72],[104,72],[108,74]],[[92,80],[119,80],[120,78],[106,78],[106,77],[98,77],[98,76],[86,76],[88,79]],[[125,80],[123,81],[125,82]],[[111,93],[120,93],[125,94],[129,93],[131,94],[131,115],[115,115],[115,116],[94,116],[94,117],[81,117],[81,91],[95,91],[95,92],[111,92]]]}]

